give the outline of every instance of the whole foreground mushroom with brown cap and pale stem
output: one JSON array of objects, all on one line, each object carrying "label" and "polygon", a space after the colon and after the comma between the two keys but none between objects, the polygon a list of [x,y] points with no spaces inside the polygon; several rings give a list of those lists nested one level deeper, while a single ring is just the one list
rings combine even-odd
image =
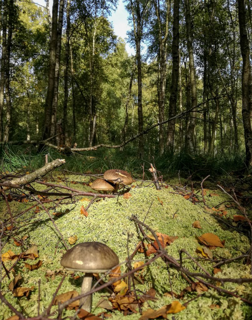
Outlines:
[{"label": "whole foreground mushroom with brown cap and pale stem", "polygon": [[[113,250],[101,242],[82,242],[69,249],[61,258],[61,266],[67,270],[85,272],[80,294],[89,292],[93,273],[105,273],[118,265]],[[80,299],[80,306],[91,312],[92,294]]]}]

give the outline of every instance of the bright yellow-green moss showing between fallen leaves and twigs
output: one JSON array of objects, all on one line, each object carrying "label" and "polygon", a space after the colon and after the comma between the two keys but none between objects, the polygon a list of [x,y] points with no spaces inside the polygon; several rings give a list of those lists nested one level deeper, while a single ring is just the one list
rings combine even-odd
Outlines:
[{"label": "bright yellow-green moss showing between fallen leaves and twigs", "polygon": [[[67,179],[69,182],[74,180],[87,183],[89,177],[69,176]],[[57,178],[55,180],[57,180]],[[59,182],[56,181],[55,183]],[[83,191],[90,191],[90,188],[83,184],[68,184],[68,186]],[[43,189],[44,187],[36,184],[36,188]],[[211,191],[209,191],[209,193],[210,192]],[[127,257],[127,246],[131,253],[141,239],[141,235],[138,234],[135,224],[129,219],[132,214],[134,214],[139,220],[145,219],[145,223],[155,231],[170,236],[178,236],[178,239],[167,247],[168,253],[175,258],[179,258],[178,251],[182,248],[195,257],[197,255],[195,253],[196,248],[199,246],[196,236],[200,236],[207,232],[212,232],[219,236],[221,240],[225,240],[225,248],[217,248],[214,251],[215,257],[221,256],[224,258],[231,258],[240,255],[242,252],[247,252],[250,247],[246,236],[238,233],[235,229],[229,230],[225,225],[220,225],[220,222],[216,220],[214,215],[204,212],[201,207],[202,203],[194,205],[189,200],[185,200],[183,196],[175,194],[172,188],[163,188],[161,191],[156,191],[154,188],[150,188],[148,184],[143,184],[142,188],[139,188],[136,183],[136,188],[132,189],[130,193],[132,196],[129,199],[119,197],[118,199],[105,198],[96,201],[90,206],[87,218],[80,215],[81,206],[87,204],[85,201],[79,201],[83,197],[77,197],[77,201],[74,203],[69,203],[69,200],[62,202],[61,206],[57,207],[56,211],[66,213],[56,218],[55,216],[53,217],[64,240],[67,242],[69,236],[76,235],[78,237],[76,244],[84,241],[103,242],[118,254],[118,257],[122,262]],[[205,196],[209,206],[214,206],[222,201],[228,200],[228,197],[221,194],[220,191],[216,193],[220,194],[220,196]],[[158,197],[163,201],[163,205],[160,204]],[[12,201],[10,202],[10,207],[13,214],[16,215],[32,204],[34,204],[34,202],[18,203]],[[51,208],[51,203],[46,204],[46,207],[49,209],[51,215],[55,212],[55,209]],[[4,220],[8,216],[4,201],[0,201],[0,208],[0,219]],[[234,209],[228,209],[227,211],[237,213]],[[33,218],[33,220],[30,220],[33,221],[33,224],[25,225],[27,222],[24,221],[31,218]],[[195,220],[200,221],[202,229],[192,228],[192,223]],[[22,276],[22,281],[19,283],[20,286],[35,287],[28,298],[14,298],[12,292],[8,289],[10,280],[8,280],[7,277],[2,281],[2,292],[6,299],[19,311],[22,311],[27,316],[35,316],[37,314],[38,279],[41,279],[40,310],[42,312],[50,304],[53,293],[63,274],[66,274],[67,277],[60,288],[59,294],[70,290],[77,290],[80,292],[82,275],[78,273],[81,278],[77,280],[72,279],[70,273],[66,272],[61,267],[60,260],[62,253],[65,252],[65,248],[57,230],[53,227],[53,224],[45,211],[41,211],[37,214],[28,212],[20,218],[17,218],[16,224],[19,224],[20,226],[18,235],[20,237],[28,235],[29,238],[26,243],[37,245],[39,259],[43,261],[43,265],[38,270],[30,272],[24,268],[24,262],[20,261],[14,268],[15,273],[20,273]],[[150,234],[150,232],[147,232],[147,234]],[[69,247],[70,246],[71,245],[69,245]],[[11,249],[16,254],[19,254],[27,248],[28,246],[24,248],[14,246],[13,240],[11,239],[5,245],[3,252]],[[183,254],[183,257],[186,258],[186,255]],[[144,256],[141,253],[137,253],[135,256],[135,260],[143,258]],[[32,264],[31,260],[28,260],[27,262]],[[244,265],[243,262],[243,260],[236,260],[228,265],[222,266],[223,271],[222,273],[217,274],[217,276],[249,277],[249,266]],[[183,263],[184,266],[191,271],[200,270],[199,267],[189,259],[183,260]],[[204,260],[200,260],[200,263],[212,274],[213,263]],[[5,265],[9,268],[12,265],[12,261],[5,262]],[[45,277],[47,270],[57,270],[58,274],[54,279]],[[122,270],[126,271],[125,265],[122,266]],[[170,269],[170,273],[173,290],[176,293],[180,293],[188,286],[188,284],[177,271]],[[148,268],[145,268],[143,270],[143,276],[144,283],[137,284],[137,289],[145,291],[150,289],[150,287],[154,287],[159,298],[159,300],[155,302],[145,302],[143,306],[144,309],[148,308],[148,305],[156,309],[162,307],[164,304],[171,303],[172,299],[163,295],[164,292],[170,291],[170,284],[166,265],[161,259],[156,260]],[[11,277],[13,278],[13,275],[11,275]],[[250,284],[237,285],[226,283],[224,284],[224,288],[237,291],[247,299],[252,299]],[[101,295],[104,294],[107,295],[107,292],[97,292],[93,296],[93,312],[95,314],[104,310],[95,308]],[[183,302],[190,300],[195,296],[194,293],[188,293]],[[218,304],[220,308],[209,308],[209,306],[213,304]],[[52,310],[56,310],[56,306],[54,306]],[[71,315],[73,314],[73,311],[68,310],[65,314]],[[0,319],[6,319],[11,315],[12,313],[10,310],[5,305],[2,305]],[[185,310],[174,316],[175,319],[182,320],[240,320],[249,319],[249,317],[252,316],[252,311],[248,305],[242,303],[239,299],[220,295],[214,290],[208,290],[203,296],[191,301]],[[121,318],[122,314],[118,311],[113,313],[111,317],[113,320]],[[124,319],[131,320],[138,318],[138,314],[124,317]],[[168,319],[171,319],[171,315],[168,316]]]}]

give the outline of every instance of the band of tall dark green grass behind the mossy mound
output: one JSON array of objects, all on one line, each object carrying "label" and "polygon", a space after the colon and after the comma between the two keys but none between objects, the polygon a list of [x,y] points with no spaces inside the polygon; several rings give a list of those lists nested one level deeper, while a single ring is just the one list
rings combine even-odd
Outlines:
[{"label": "band of tall dark green grass behind the mossy mound", "polygon": [[66,159],[64,169],[92,174],[101,173],[111,168],[118,168],[129,171],[134,176],[141,176],[144,166],[144,171],[148,175],[148,169],[150,168],[150,163],[152,163],[156,165],[156,168],[165,178],[175,176],[180,171],[182,176],[188,177],[188,174],[191,174],[192,179],[196,180],[202,179],[208,174],[214,178],[218,175],[225,175],[245,168],[244,152],[225,153],[216,156],[188,155],[181,152],[175,155],[155,155],[150,159],[142,160],[138,159],[135,151],[130,148],[123,151],[101,148],[97,151],[85,152],[82,155],[66,156],[51,148],[37,153],[35,147],[5,145],[1,149],[0,171],[36,170],[45,164],[46,154],[48,154],[49,161],[56,158]]}]

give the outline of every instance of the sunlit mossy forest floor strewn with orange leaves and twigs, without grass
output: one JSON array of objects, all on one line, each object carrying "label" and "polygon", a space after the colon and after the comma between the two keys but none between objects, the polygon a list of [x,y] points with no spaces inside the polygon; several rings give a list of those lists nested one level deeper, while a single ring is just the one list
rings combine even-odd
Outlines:
[{"label": "sunlit mossy forest floor strewn with orange leaves and twigs, without grass", "polygon": [[[55,171],[43,181],[92,192],[94,179]],[[6,191],[8,201],[0,200],[2,260],[7,270],[12,269],[8,279],[1,266],[1,292],[12,309],[2,301],[0,319],[19,319],[13,308],[25,318],[43,312],[45,317],[51,301],[50,319],[57,318],[55,303],[78,295],[83,279],[82,273],[73,275],[65,270],[61,257],[66,246],[86,241],[105,243],[116,252],[122,276],[132,268],[142,268],[123,277],[119,287],[110,285],[108,290],[94,292],[95,316],[85,318],[80,313],[82,319],[252,319],[251,231],[244,215],[247,212],[252,220],[248,191],[251,179],[241,180],[240,190],[237,185],[235,193],[224,181],[220,178],[218,184],[227,193],[217,183],[206,180],[201,188],[202,181],[182,178],[163,181],[160,191],[151,181],[135,180],[124,196],[115,198],[75,196],[60,200],[60,196],[30,196],[27,192],[20,198]],[[45,190],[37,182],[31,186]],[[122,188],[119,191],[125,192]],[[57,192],[66,189],[57,188]],[[164,249],[153,245],[153,232]],[[142,240],[145,248],[136,251]],[[172,257],[179,265],[180,254],[183,272],[165,258]],[[193,277],[190,272],[200,275]],[[231,281],[216,281],[213,276]],[[245,278],[248,280],[243,282]],[[105,283],[110,280],[109,275],[103,278]],[[95,282],[94,278],[93,285]],[[54,300],[55,293],[62,296]],[[73,317],[78,304],[76,300],[64,310],[61,319]]]}]

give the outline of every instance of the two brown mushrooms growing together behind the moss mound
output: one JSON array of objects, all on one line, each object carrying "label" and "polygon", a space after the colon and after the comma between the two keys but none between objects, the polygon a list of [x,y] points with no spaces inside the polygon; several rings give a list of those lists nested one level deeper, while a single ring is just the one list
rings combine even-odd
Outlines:
[{"label": "two brown mushrooms growing together behind the moss mound", "polygon": [[103,178],[108,181],[96,179],[92,183],[91,188],[97,191],[117,192],[120,183],[124,185],[130,185],[133,182],[133,179],[128,172],[119,169],[105,171]]}]

